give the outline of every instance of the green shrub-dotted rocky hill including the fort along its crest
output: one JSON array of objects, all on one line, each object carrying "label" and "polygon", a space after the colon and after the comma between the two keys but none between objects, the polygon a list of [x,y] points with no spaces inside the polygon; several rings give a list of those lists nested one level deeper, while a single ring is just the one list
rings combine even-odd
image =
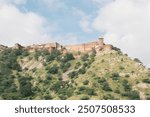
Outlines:
[{"label": "green shrub-dotted rocky hill including the fort along its crest", "polygon": [[98,41],[0,46],[0,99],[150,99],[150,70]]}]

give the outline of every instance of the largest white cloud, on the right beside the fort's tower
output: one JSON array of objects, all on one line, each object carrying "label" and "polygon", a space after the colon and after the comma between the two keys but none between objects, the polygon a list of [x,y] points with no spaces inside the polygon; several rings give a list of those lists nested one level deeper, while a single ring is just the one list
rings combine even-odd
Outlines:
[{"label": "largest white cloud, on the right beside the fort's tower", "polygon": [[150,66],[150,1],[115,0],[103,6],[93,20],[93,28],[111,43]]}]

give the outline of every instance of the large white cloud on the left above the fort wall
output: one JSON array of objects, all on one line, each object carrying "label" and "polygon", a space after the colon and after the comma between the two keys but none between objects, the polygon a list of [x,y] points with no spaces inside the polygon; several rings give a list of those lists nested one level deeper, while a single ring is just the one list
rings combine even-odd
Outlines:
[{"label": "large white cloud on the left above the fort wall", "polygon": [[29,45],[53,40],[44,17],[34,12],[21,12],[12,3],[0,5],[0,43],[12,46],[14,43]]}]

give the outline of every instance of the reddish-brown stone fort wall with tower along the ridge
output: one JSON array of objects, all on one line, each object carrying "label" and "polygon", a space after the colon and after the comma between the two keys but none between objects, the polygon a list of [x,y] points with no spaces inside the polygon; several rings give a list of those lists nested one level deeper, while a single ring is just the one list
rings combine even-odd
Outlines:
[{"label": "reddish-brown stone fort wall with tower along the ridge", "polygon": [[[0,47],[1,47],[1,49],[7,48],[6,46],[2,46],[2,45]],[[33,44],[33,45],[30,45],[30,46],[23,47],[22,45],[17,43],[12,48],[14,48],[14,49],[25,48],[29,52],[35,52],[35,51],[38,51],[38,50],[45,50],[45,49],[48,50],[48,51],[52,51],[54,49],[58,49],[58,50],[61,50],[63,52],[81,52],[81,53],[85,53],[85,52],[92,51],[93,48],[96,51],[100,51],[100,50],[109,51],[113,48],[113,46],[110,45],[110,44],[105,44],[103,38],[98,38],[97,41],[93,41],[93,42],[89,42],[89,43],[75,44],[75,45],[65,45],[65,46],[55,42],[55,43],[47,43],[47,44],[39,44],[39,45]]]}]

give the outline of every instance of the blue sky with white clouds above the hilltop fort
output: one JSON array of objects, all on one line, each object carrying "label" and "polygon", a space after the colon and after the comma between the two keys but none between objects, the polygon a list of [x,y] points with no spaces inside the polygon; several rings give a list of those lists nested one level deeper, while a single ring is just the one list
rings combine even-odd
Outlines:
[{"label": "blue sky with white clouds above the hilltop fort", "polygon": [[0,44],[76,44],[104,37],[150,67],[150,0],[0,0]]}]

